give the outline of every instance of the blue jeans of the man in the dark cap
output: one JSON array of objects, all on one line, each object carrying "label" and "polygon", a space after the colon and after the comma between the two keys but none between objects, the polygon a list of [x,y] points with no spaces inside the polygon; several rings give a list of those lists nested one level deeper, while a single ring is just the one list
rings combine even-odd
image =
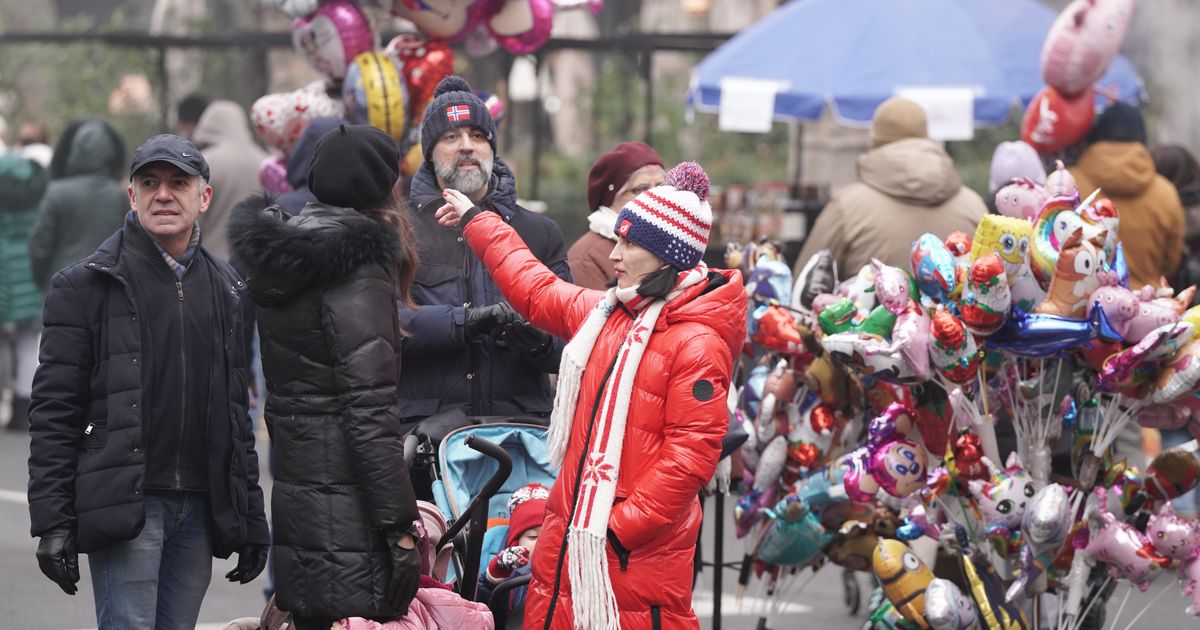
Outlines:
[{"label": "blue jeans of the man in the dark cap", "polygon": [[100,630],[196,628],[212,578],[208,504],[198,492],[148,492],[138,538],[88,554]]}]

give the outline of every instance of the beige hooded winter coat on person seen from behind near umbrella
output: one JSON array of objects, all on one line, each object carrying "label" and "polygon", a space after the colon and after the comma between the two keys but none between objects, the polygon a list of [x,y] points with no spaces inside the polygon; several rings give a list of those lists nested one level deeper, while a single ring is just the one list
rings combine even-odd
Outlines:
[{"label": "beige hooded winter coat on person seen from behind near umbrella", "polygon": [[983,199],[962,186],[941,145],[926,138],[884,144],[859,156],[857,182],[834,192],[804,242],[796,272],[824,248],[833,252],[839,278],[857,274],[871,258],[910,269],[912,242],[922,234],[974,234],[985,214]]}]

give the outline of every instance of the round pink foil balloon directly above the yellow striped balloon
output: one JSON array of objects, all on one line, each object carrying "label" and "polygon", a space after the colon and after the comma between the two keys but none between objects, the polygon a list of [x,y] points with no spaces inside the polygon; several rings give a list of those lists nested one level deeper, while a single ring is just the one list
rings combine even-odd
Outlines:
[{"label": "round pink foil balloon directly above the yellow striped balloon", "polygon": [[350,61],[376,48],[362,11],[348,0],[322,2],[312,16],[292,23],[292,44],[312,67],[331,79],[346,76]]}]

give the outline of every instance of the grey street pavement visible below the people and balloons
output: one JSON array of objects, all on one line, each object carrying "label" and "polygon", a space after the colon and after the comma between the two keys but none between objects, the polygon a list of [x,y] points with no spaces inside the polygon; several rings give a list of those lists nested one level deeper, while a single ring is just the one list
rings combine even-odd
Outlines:
[{"label": "grey street pavement visible below the people and balloons", "polygon": [[[80,557],[79,593],[65,595],[58,586],[42,576],[37,569],[34,552],[37,541],[29,535],[29,509],[25,504],[28,482],[26,457],[29,438],[0,428],[0,629],[88,629],[96,626],[91,599],[91,581],[86,557]],[[260,454],[262,455],[262,454]],[[264,456],[265,460],[265,456]],[[265,462],[264,462],[265,463]],[[266,469],[265,466],[262,467]],[[264,480],[264,490],[270,491],[270,480]],[[706,503],[706,532],[702,534],[702,551],[706,559],[713,558],[713,500]],[[743,542],[733,538],[731,516],[732,504],[726,504],[726,562],[738,560]],[[209,587],[204,606],[200,610],[199,629],[220,630],[224,623],[236,617],[257,617],[263,608],[263,589],[266,576],[259,576],[250,584],[232,584],[224,580],[224,574],[233,569],[235,562],[215,560],[212,565],[212,584]],[[764,598],[761,584],[750,588],[737,598],[737,572],[725,571],[724,595],[721,599],[722,616],[720,628],[726,630],[755,630],[760,617],[766,614],[768,604],[774,602],[775,613],[769,623],[773,629],[821,628],[823,630],[858,629],[866,618],[866,599],[870,595],[870,578],[858,574],[862,587],[862,607],[858,614],[850,614],[844,604],[841,569],[834,565],[812,575],[804,571],[792,578],[792,586],[785,596]],[[715,628],[713,619],[713,571],[706,569],[694,601],[701,617],[701,628]],[[1118,624],[1121,630],[1134,616],[1151,604],[1160,592],[1165,593],[1153,602],[1152,608],[1132,628],[1153,628],[1156,630],[1195,628],[1198,622],[1184,614],[1186,600],[1178,593],[1174,574],[1160,576],[1146,593],[1133,590],[1124,606]],[[1127,587],[1120,586],[1110,599],[1109,625],[1112,625],[1117,608],[1126,596]],[[1049,625],[1043,625],[1049,628]]]}]

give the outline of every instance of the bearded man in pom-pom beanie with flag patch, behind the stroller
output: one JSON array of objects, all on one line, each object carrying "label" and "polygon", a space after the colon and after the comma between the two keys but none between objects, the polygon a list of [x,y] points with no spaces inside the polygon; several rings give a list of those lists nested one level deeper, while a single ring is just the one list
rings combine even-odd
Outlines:
[{"label": "bearded man in pom-pom beanie with flag patch, behind the stroller", "polygon": [[403,370],[400,415],[415,421],[438,412],[548,416],[547,374],[558,371],[563,343],[524,322],[504,300],[460,234],[433,212],[455,188],[497,212],[533,253],[570,281],[563,233],[553,221],[516,203],[512,170],[496,155],[496,121],[460,77],[438,84],[421,122],[425,164],[413,178],[410,223],[420,247],[413,284],[418,308],[402,308],[410,332],[402,352],[420,368]]}]

